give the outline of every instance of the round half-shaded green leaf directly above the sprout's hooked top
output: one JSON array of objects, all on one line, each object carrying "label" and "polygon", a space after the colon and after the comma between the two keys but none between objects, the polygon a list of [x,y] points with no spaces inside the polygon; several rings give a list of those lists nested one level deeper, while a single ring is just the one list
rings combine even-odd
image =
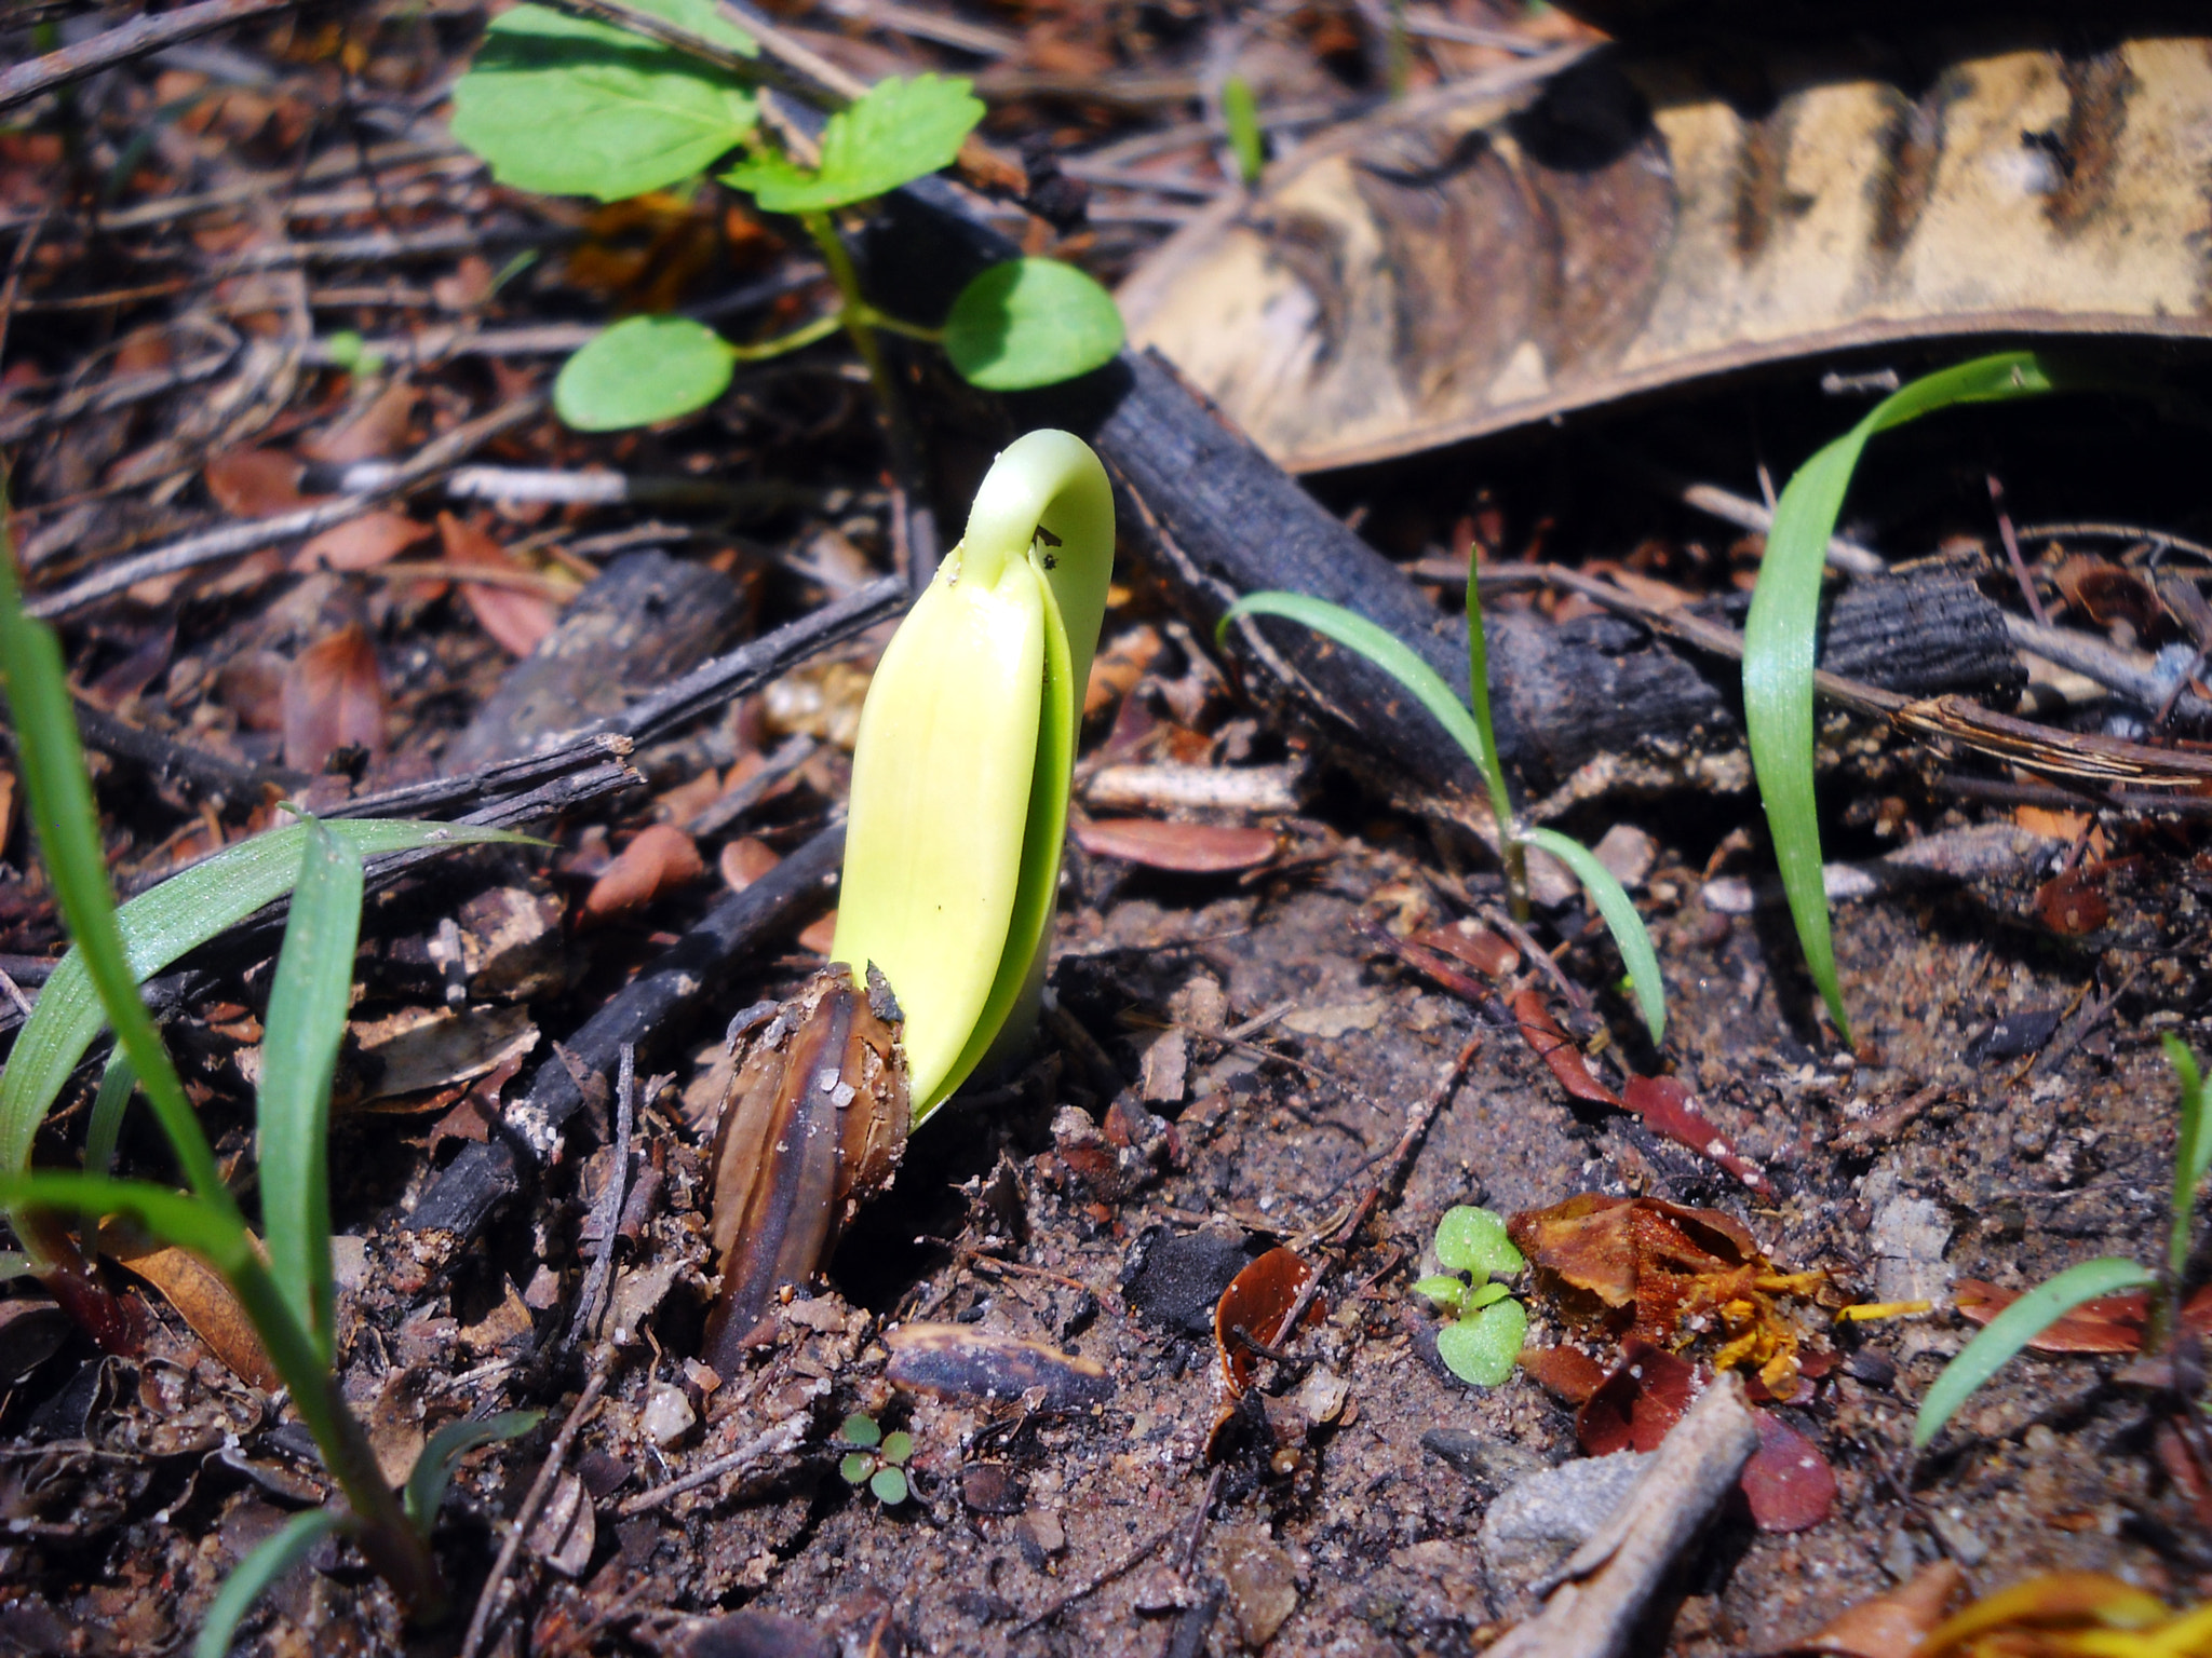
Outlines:
[{"label": "round half-shaded green leaf directly above the sprout's hooked top", "polygon": [[945,356],[969,385],[1026,391],[1113,363],[1121,309],[1057,259],[1009,259],[969,281],[945,318]]}]

